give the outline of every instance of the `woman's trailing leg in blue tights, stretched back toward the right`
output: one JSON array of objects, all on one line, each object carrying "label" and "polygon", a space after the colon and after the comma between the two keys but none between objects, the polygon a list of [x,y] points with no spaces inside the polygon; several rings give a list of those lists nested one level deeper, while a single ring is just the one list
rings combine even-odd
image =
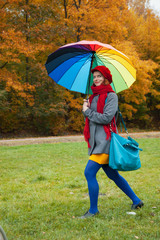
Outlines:
[{"label": "woman's trailing leg in blue tights, stretched back toward the right", "polygon": [[133,201],[133,204],[138,204],[141,201],[117,170],[110,168],[108,164],[103,165],[102,168],[106,175]]}]

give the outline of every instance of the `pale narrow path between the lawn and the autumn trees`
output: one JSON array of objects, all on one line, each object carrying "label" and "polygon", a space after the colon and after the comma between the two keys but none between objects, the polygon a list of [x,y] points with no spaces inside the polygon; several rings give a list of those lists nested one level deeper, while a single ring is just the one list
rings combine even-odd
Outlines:
[{"label": "pale narrow path between the lawn and the autumn trees", "polygon": [[[125,133],[120,134],[126,136]],[[160,132],[140,132],[130,133],[133,138],[160,138]],[[83,135],[76,136],[60,136],[60,137],[38,137],[38,138],[21,138],[21,139],[9,139],[0,140],[0,146],[21,146],[28,144],[40,144],[40,143],[58,143],[58,142],[82,142],[84,141]]]}]

